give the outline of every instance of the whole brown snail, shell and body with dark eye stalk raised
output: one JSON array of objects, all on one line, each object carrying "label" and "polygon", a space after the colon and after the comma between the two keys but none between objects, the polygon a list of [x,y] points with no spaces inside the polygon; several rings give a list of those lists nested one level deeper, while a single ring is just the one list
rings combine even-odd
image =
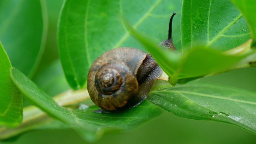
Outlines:
[{"label": "whole brown snail, shell and body with dark eye stalk raised", "polygon": [[[172,40],[170,18],[168,39],[159,44],[161,49],[176,50]],[[100,108],[98,112],[120,111],[143,102],[162,69],[150,53],[136,48],[115,48],[99,56],[87,76],[87,89],[91,100]]]}]

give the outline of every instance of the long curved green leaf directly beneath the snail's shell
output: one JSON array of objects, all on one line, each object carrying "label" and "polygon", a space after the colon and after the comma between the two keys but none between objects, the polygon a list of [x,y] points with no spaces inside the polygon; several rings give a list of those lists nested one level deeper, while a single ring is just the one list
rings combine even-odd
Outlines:
[{"label": "long curved green leaf directly beneath the snail's shell", "polygon": [[83,109],[72,110],[59,106],[51,97],[28,79],[16,68],[12,68],[11,77],[13,82],[34,102],[35,105],[46,111],[53,117],[62,120],[74,128],[88,141],[95,141],[105,131],[125,130],[139,126],[153,117],[159,116],[161,111],[148,101],[143,102],[131,110],[120,113],[100,114],[94,113],[97,106],[84,107]]}]

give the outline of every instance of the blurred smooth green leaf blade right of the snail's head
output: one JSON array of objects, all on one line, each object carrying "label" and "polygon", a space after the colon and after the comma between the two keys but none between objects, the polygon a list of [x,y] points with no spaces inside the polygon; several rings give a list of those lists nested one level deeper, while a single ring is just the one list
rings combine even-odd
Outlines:
[{"label": "blurred smooth green leaf blade right of the snail's head", "polygon": [[220,53],[214,49],[195,48],[183,55],[179,67],[176,69],[171,82],[186,83],[191,79],[206,76],[211,73],[223,72],[232,69],[247,55],[232,56]]}]

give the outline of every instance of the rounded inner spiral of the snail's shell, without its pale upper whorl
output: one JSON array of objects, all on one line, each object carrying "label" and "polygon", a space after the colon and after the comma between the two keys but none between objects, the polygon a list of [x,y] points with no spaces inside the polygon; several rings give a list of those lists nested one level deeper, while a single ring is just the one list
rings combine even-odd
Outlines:
[{"label": "rounded inner spiral of the snail's shell, without its pale upper whorl", "polygon": [[138,81],[125,63],[109,62],[95,74],[92,101],[106,110],[123,107],[138,91]]}]

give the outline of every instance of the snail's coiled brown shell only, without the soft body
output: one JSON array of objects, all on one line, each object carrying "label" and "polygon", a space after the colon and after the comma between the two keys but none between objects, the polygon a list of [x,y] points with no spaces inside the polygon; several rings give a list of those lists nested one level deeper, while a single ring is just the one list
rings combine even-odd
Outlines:
[{"label": "snail's coiled brown shell only, without the soft body", "polygon": [[98,57],[87,80],[92,101],[105,110],[126,105],[138,91],[136,74],[146,56],[147,53],[139,49],[116,48]]}]

